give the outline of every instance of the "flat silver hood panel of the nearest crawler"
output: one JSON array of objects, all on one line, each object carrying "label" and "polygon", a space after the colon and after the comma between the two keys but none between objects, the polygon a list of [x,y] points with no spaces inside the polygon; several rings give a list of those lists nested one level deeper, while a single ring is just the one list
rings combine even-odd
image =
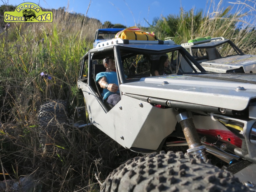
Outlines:
[{"label": "flat silver hood panel of the nearest crawler", "polygon": [[[204,74],[205,75],[205,74]],[[255,81],[254,75],[210,74],[211,77],[225,77]],[[168,84],[162,84],[167,81]],[[237,87],[245,90],[237,91]],[[256,84],[208,79],[184,75],[145,77],[136,82],[120,85],[124,93],[163,98],[193,104],[201,104],[231,110],[244,110],[252,98],[256,98]]]}]

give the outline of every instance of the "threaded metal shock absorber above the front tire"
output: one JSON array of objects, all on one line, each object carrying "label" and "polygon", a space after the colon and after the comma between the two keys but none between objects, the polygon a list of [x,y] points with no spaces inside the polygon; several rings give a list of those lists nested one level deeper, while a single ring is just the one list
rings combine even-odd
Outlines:
[{"label": "threaded metal shock absorber above the front tire", "polygon": [[191,154],[196,154],[199,158],[204,161],[207,160],[206,156],[206,146],[202,145],[195,124],[193,122],[193,115],[190,111],[182,112],[176,115],[178,123],[182,127],[182,131],[187,140],[189,146],[187,152]]}]

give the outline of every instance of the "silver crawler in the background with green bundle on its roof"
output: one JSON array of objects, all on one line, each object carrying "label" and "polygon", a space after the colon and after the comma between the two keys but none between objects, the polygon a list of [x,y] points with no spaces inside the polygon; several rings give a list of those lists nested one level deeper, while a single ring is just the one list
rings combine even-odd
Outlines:
[{"label": "silver crawler in the background with green bundle on its roof", "polygon": [[256,73],[256,55],[244,54],[231,40],[210,38],[181,44],[209,72]]}]

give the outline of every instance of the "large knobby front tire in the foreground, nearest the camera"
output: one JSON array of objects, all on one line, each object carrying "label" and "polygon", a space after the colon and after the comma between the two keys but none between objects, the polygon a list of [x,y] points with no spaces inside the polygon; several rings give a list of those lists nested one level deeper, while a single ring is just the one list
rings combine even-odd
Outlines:
[{"label": "large knobby front tire in the foreground, nearest the camera", "polygon": [[136,157],[113,170],[106,191],[249,191],[229,172],[191,154],[164,151]]}]

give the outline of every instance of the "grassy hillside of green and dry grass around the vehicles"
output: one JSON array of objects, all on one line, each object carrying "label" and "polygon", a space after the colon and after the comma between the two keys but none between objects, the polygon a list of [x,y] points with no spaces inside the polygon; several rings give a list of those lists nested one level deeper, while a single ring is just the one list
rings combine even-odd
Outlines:
[{"label": "grassy hillside of green and dry grass around the vehicles", "polygon": [[[243,9],[248,6],[240,7],[235,14],[230,14],[232,7],[221,4],[206,14],[180,9],[179,15],[156,17],[148,28],[137,26],[177,44],[199,36],[223,36],[244,53],[256,54],[255,7],[246,13]],[[11,9],[1,6],[0,15]],[[140,155],[93,126],[60,129],[65,144],[42,148],[37,120],[40,105],[47,100],[66,100],[72,121],[75,108],[84,106],[76,82],[95,30],[125,27],[111,21],[102,24],[65,8],[52,11],[52,23],[7,24],[0,17],[0,191],[14,191],[14,183],[22,183],[24,178],[30,183],[25,191],[98,191],[113,169]],[[42,72],[52,79],[42,77]]]}]

